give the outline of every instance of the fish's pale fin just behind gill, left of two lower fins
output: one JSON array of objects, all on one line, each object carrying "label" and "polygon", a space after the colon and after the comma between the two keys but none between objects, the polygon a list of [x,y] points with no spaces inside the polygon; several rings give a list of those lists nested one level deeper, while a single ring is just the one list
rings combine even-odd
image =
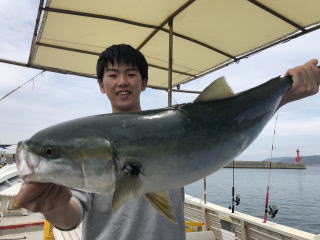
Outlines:
[{"label": "fish's pale fin just behind gill, left of two lower fins", "polygon": [[116,180],[115,191],[112,199],[112,211],[116,212],[129,200],[142,193],[142,181],[138,175],[122,175]]}]

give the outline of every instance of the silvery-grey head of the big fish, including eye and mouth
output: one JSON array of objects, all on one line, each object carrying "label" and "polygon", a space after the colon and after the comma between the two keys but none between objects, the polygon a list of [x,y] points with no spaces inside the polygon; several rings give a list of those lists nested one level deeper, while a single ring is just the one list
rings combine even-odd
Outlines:
[{"label": "silvery-grey head of the big fish, including eye and mouth", "polygon": [[108,192],[115,178],[110,142],[77,131],[40,131],[18,143],[16,162],[26,182],[51,182],[90,192]]}]

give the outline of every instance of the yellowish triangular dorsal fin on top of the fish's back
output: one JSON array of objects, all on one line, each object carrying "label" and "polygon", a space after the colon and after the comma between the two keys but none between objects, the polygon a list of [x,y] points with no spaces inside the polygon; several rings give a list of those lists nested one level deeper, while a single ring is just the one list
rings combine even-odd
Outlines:
[{"label": "yellowish triangular dorsal fin on top of the fish's back", "polygon": [[232,89],[224,77],[220,77],[206,87],[194,102],[206,102],[234,96]]}]

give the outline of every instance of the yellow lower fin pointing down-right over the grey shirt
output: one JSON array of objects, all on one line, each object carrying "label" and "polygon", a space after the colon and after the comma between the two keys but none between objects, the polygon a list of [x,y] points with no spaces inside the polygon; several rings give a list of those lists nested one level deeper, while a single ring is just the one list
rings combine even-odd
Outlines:
[{"label": "yellow lower fin pointing down-right over the grey shirt", "polygon": [[144,197],[162,216],[173,223],[177,223],[171,200],[167,192],[146,193]]}]

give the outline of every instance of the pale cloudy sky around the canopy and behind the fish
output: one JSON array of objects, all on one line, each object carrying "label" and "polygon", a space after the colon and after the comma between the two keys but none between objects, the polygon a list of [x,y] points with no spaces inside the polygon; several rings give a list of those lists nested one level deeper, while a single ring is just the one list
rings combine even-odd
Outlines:
[{"label": "pale cloudy sky around the canopy and behind the fish", "polygon": [[[0,58],[27,62],[38,1],[0,1]],[[209,74],[182,89],[201,91],[225,76],[234,90],[255,87],[311,58],[320,58],[320,31],[272,47],[237,64]],[[0,63],[0,98],[40,73],[39,70]],[[192,102],[197,95],[174,93],[173,104]],[[163,108],[167,93],[147,89],[141,95],[143,110]],[[109,113],[111,106],[95,79],[44,72],[34,81],[0,101],[0,144],[17,143],[37,131],[63,121]],[[275,115],[276,116],[276,115]],[[268,159],[274,132],[271,119],[258,138],[237,160]],[[273,157],[320,154],[320,94],[292,102],[279,110]],[[13,152],[14,148],[8,152]]]}]

